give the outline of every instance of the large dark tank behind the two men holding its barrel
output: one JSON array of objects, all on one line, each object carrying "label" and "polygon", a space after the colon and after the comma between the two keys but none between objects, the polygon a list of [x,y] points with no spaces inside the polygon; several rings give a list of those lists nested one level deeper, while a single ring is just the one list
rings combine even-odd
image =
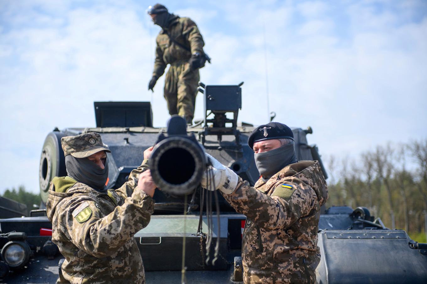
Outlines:
[{"label": "large dark tank behind the two men holding its barrel", "polygon": [[[41,208],[47,200],[49,182],[55,176],[66,175],[61,137],[92,131],[99,133],[105,147],[111,150],[107,154],[108,188],[118,188],[127,180],[132,169],[141,164],[146,148],[177,136],[187,142],[191,140],[191,143],[186,142],[188,147],[181,147],[182,143],[176,141],[182,139],[175,139],[175,150],[168,152],[172,154],[160,155],[158,160],[167,160],[172,168],[182,167],[188,177],[173,182],[170,177],[165,177],[166,181],[183,184],[196,176],[195,169],[200,166],[194,166],[196,158],[187,152],[200,147],[254,185],[259,173],[253,151],[247,145],[254,126],[237,122],[242,107],[242,84],[200,83],[199,91],[205,99],[205,117],[187,129],[184,126],[184,133],[171,125],[153,128],[149,102],[94,102],[96,127],[55,128],[47,134],[39,168]],[[294,127],[292,132],[297,159],[319,160],[327,177],[318,148],[307,142],[307,136],[313,133],[312,128]],[[197,165],[203,162],[206,161]],[[170,168],[164,172],[170,172]],[[152,219],[135,235],[144,262],[146,282],[181,281],[184,252],[184,283],[239,283],[242,281],[240,256],[246,217],[237,214],[220,194],[218,210],[209,206],[209,202],[201,203],[205,199],[201,188],[197,183],[189,184],[191,186],[187,186],[185,192],[182,187],[176,191],[156,191]],[[40,210],[34,214],[40,214]],[[0,263],[0,270],[3,267],[3,270],[11,271],[8,276],[2,276],[3,282],[55,283],[61,255],[49,242],[52,225],[47,217],[1,219],[0,225],[2,233],[20,232],[20,235],[12,235],[12,239],[10,235],[2,236],[0,246],[6,246],[15,238],[15,242],[24,243],[23,246],[28,246],[26,251],[30,251],[25,266],[5,268],[3,264],[7,261]],[[212,230],[212,245],[207,245],[203,234],[209,229]],[[412,241],[405,231],[386,228],[380,218],[371,216],[364,207],[322,208],[318,238],[322,254],[316,270],[319,283],[421,283],[427,279],[427,245]],[[216,243],[215,249],[213,244]],[[207,258],[210,261],[206,262]]]}]

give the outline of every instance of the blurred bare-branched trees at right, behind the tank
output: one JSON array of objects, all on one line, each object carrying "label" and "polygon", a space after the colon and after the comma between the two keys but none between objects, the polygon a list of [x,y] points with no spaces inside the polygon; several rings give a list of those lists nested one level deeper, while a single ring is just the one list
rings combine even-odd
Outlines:
[{"label": "blurred bare-branched trees at right, behind the tank", "polygon": [[377,146],[354,159],[325,160],[327,207],[365,206],[390,229],[404,229],[425,242],[427,139]]}]

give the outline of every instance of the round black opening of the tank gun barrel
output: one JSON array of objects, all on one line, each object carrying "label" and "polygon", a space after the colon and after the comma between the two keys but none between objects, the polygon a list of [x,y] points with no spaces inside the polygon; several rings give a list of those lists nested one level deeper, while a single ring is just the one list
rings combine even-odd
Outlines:
[{"label": "round black opening of the tank gun barrel", "polygon": [[180,185],[190,180],[195,169],[196,162],[193,156],[183,148],[166,150],[158,162],[158,172],[161,178],[174,185]]}]

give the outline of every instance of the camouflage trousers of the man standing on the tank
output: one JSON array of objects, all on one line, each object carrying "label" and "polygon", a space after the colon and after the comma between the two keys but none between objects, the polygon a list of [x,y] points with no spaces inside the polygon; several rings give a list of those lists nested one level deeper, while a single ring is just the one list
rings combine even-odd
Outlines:
[{"label": "camouflage trousers of the man standing on the tank", "polygon": [[190,70],[188,60],[170,64],[164,81],[164,98],[170,115],[193,119],[199,81],[199,70]]}]

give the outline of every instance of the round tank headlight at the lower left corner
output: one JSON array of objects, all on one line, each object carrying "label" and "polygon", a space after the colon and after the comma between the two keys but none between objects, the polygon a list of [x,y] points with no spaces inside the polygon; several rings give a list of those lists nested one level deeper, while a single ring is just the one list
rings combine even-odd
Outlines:
[{"label": "round tank headlight at the lower left corner", "polygon": [[23,267],[29,260],[31,250],[29,246],[21,241],[10,241],[3,246],[1,256],[9,267]]}]

